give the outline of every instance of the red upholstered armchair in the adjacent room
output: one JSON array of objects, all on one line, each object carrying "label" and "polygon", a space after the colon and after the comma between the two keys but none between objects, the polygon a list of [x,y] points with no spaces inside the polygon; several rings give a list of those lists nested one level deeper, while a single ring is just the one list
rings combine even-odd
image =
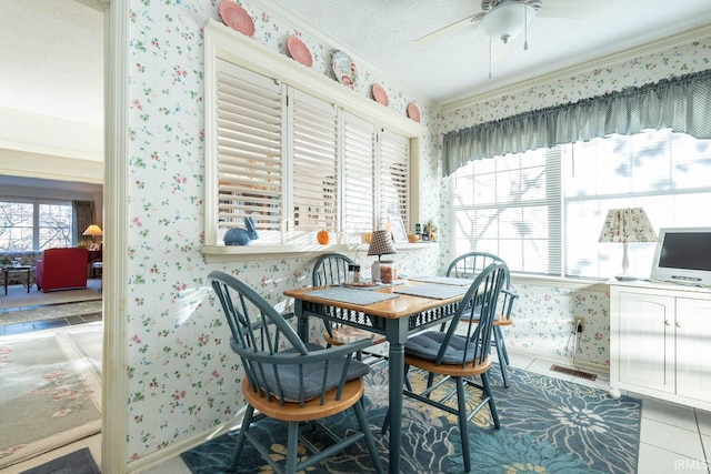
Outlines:
[{"label": "red upholstered armchair in the adjacent room", "polygon": [[47,249],[37,261],[34,282],[44,293],[87,288],[87,249]]}]

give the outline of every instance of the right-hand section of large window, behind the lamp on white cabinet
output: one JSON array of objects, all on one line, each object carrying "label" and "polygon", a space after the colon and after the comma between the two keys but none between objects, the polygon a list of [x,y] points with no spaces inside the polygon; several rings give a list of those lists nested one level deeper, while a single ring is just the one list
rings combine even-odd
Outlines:
[{"label": "right-hand section of large window, behind the lamp on white cabinet", "polygon": [[[598,242],[610,209],[643,208],[655,231],[709,226],[711,140],[670,130],[612,135],[564,148],[567,273],[610,278],[622,244]],[[654,243],[630,243],[630,273],[649,278]]]}]

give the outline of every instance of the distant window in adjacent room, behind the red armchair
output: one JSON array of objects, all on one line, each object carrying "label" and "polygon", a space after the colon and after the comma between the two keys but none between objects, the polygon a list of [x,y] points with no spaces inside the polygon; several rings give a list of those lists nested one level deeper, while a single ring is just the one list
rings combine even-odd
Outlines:
[{"label": "distant window in adjacent room, behind the red armchair", "polygon": [[71,245],[71,203],[0,201],[0,251]]}]

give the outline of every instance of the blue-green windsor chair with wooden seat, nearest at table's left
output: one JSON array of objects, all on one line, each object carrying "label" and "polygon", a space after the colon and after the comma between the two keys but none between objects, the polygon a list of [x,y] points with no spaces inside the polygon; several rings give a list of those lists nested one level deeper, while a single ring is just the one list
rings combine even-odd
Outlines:
[{"label": "blue-green windsor chair with wooden seat, nearest at table's left", "polygon": [[[276,472],[288,474],[304,471],[363,440],[375,472],[383,472],[362,405],[362,376],[370,369],[353,357],[353,353],[370,345],[370,341],[332,349],[304,343],[287,320],[243,282],[218,271],[210,273],[209,281],[230,327],[230,346],[239,355],[246,375],[242,394],[248,406],[231,470],[239,464],[246,440]],[[352,409],[359,430],[348,431],[341,437],[320,422],[348,409]],[[269,455],[270,446],[261,445],[250,433],[252,423],[264,417],[288,426],[286,471]],[[301,458],[298,453],[298,442],[304,436],[301,426],[308,431],[320,428],[334,444],[319,452],[303,438],[310,456]]]}]

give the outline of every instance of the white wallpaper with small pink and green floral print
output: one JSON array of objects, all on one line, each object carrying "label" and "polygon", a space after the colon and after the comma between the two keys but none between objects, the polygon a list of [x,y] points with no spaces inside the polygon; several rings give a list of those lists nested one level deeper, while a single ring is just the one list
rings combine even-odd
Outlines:
[{"label": "white wallpaper with small pink and green floral print", "polygon": [[[127,403],[129,460],[160,451],[187,436],[210,431],[242,409],[241,373],[228,344],[229,331],[207,286],[207,275],[222,270],[257,289],[279,309],[291,304],[283,291],[309,284],[316,256],[208,263],[203,244],[204,120],[203,37],[208,19],[219,20],[219,0],[128,0],[129,29],[129,151],[126,158],[130,245],[126,249],[129,278],[129,393]],[[227,0],[230,1],[230,0]],[[238,1],[254,20],[254,41],[286,54],[289,34],[300,36],[313,56],[317,73],[331,74],[336,46],[316,44],[274,12]],[[705,52],[703,50],[707,50]],[[347,51],[348,52],[348,51]],[[708,43],[692,44],[640,58],[567,81],[497,101],[438,115],[419,105],[431,133],[421,143],[423,165],[420,192],[432,196],[423,219],[440,221],[445,235],[447,202],[439,167],[441,133],[481,120],[591,95],[624,84],[705,69]],[[359,65],[356,91],[372,100],[370,87],[381,82]],[[405,113],[411,100],[398,84],[382,82],[390,104]],[[438,208],[439,204],[439,208]],[[443,246],[400,253],[395,265],[410,274],[432,273],[449,259]],[[607,295],[541,286],[520,286],[517,325],[509,332],[511,347],[565,354],[562,330],[571,311],[585,314],[590,350],[582,357],[604,363]],[[545,312],[539,309],[545,307]],[[578,314],[578,313],[577,313]],[[316,326],[316,325],[312,325]],[[609,331],[608,331],[609,333]],[[534,334],[534,337],[531,337]],[[319,335],[314,331],[313,339]],[[594,342],[592,341],[594,340]]]}]

